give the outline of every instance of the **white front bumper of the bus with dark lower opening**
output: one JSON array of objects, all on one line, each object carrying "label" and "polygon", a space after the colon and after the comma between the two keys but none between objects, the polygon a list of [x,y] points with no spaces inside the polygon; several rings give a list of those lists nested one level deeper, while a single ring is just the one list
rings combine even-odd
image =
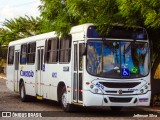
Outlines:
[{"label": "white front bumper of the bus with dark lower opening", "polygon": [[140,95],[102,95],[84,91],[84,106],[149,106],[151,91]]}]

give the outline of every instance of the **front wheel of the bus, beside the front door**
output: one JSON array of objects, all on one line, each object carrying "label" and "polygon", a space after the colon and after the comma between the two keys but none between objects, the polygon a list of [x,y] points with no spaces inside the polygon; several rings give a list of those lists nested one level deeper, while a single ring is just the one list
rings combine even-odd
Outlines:
[{"label": "front wheel of the bus, beside the front door", "polygon": [[67,103],[67,91],[66,91],[65,87],[63,87],[63,89],[62,89],[61,105],[62,105],[62,108],[63,108],[64,111],[66,111],[66,112],[72,111],[71,104]]}]

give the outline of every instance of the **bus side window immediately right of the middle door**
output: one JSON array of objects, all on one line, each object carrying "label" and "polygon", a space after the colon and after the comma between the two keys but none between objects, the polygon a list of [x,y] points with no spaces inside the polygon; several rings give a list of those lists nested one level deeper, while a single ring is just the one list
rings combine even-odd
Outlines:
[{"label": "bus side window immediately right of the middle door", "polygon": [[45,59],[49,64],[58,62],[58,42],[58,38],[52,38],[46,43]]}]

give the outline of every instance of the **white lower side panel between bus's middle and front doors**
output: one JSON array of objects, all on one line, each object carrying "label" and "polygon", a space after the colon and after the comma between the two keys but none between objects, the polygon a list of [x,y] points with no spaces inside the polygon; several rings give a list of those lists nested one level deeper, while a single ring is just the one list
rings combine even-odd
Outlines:
[{"label": "white lower side panel between bus's middle and front doors", "polygon": [[[65,70],[67,68],[68,70]],[[43,97],[57,101],[57,88],[59,82],[71,87],[70,64],[46,64],[43,74]],[[71,95],[70,95],[71,97]]]}]

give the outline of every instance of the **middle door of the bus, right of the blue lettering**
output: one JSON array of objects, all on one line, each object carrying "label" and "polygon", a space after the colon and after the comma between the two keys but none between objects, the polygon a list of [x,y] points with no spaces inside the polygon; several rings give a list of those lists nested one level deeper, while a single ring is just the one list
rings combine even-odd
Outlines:
[{"label": "middle door of the bus, right of the blue lettering", "polygon": [[36,76],[36,94],[37,96],[42,96],[42,83],[43,83],[43,51],[44,47],[37,48],[37,76]]}]

